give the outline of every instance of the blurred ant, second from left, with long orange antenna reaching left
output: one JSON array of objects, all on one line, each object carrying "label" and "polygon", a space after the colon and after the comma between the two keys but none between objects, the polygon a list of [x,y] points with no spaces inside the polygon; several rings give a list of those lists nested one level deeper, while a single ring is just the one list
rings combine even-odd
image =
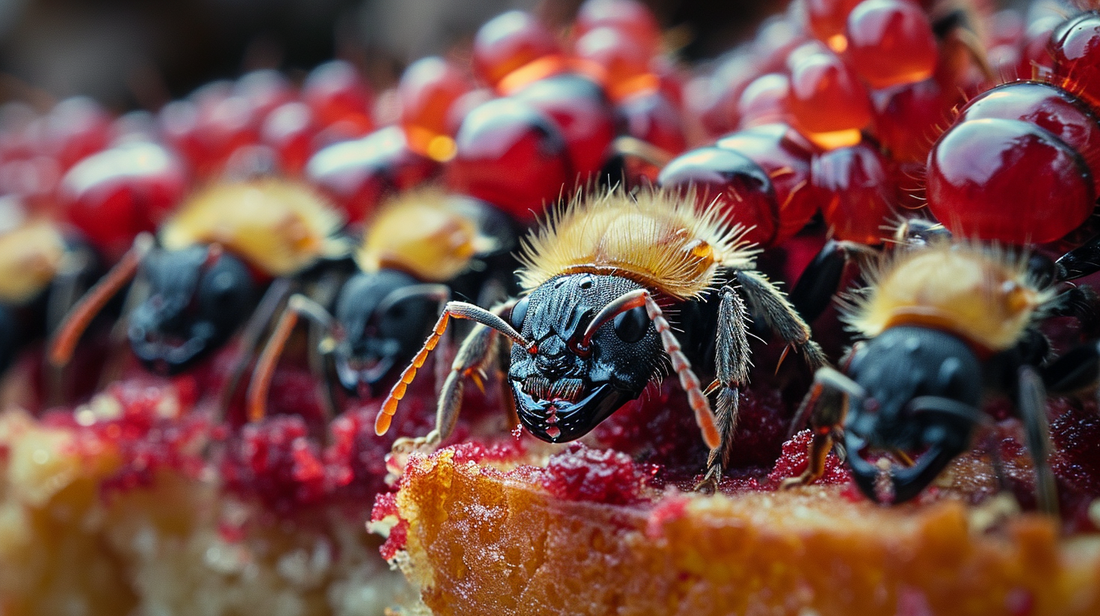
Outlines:
[{"label": "blurred ant, second from left, with long orange antenna reaching left", "polygon": [[293,278],[346,254],[346,242],[337,237],[342,226],[334,209],[297,183],[261,177],[201,190],[157,238],[139,235],[73,307],[51,341],[51,363],[69,361],[91,318],[135,277],[144,299],[127,315],[127,336],[147,370],[172,375],[190,369],[252,316],[243,336],[249,350]]}]

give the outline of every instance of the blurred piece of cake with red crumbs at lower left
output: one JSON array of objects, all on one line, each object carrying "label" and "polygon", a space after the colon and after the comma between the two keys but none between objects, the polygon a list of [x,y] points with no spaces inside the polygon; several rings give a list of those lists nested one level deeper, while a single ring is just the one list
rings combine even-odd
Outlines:
[{"label": "blurred piece of cake with red crumbs at lower left", "polygon": [[0,416],[4,616],[376,616],[407,593],[363,526],[369,503],[290,522],[169,469],[103,491],[121,457],[87,436]]}]

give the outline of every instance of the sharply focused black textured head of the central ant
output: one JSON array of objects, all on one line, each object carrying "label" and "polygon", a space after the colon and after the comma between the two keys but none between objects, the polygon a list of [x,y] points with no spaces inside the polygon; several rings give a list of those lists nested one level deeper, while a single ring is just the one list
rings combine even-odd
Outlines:
[{"label": "sharply focused black textured head of the central ant", "polygon": [[513,345],[508,380],[519,420],[536,437],[583,437],[659,375],[667,360],[645,306],[616,308],[641,288],[617,276],[569,274],[513,308],[512,326],[535,352]]}]

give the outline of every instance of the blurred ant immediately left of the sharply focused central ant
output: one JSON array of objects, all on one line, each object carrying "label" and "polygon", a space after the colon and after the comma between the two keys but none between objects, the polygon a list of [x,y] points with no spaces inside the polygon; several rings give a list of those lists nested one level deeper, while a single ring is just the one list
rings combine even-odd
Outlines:
[{"label": "blurred ant immediately left of the sharply focused central ant", "polygon": [[[321,327],[318,351],[343,389],[375,396],[416,355],[453,295],[485,304],[507,297],[514,244],[513,221],[483,201],[433,188],[391,201],[366,224],[358,272],[343,282],[332,312],[302,294],[287,302],[253,372],[250,418],[264,416],[275,364],[299,317]],[[332,380],[321,380],[333,414]]]}]

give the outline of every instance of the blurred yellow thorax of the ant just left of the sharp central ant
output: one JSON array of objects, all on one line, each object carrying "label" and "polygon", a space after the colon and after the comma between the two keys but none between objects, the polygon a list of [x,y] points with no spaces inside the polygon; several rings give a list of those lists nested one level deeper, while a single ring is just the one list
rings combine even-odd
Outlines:
[{"label": "blurred yellow thorax of the ant just left of the sharp central ant", "polygon": [[437,189],[391,201],[367,226],[355,261],[364,272],[393,267],[425,282],[461,274],[475,255],[496,248],[474,220],[448,205]]}]

